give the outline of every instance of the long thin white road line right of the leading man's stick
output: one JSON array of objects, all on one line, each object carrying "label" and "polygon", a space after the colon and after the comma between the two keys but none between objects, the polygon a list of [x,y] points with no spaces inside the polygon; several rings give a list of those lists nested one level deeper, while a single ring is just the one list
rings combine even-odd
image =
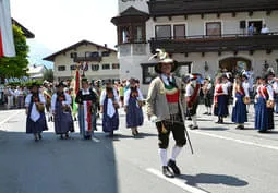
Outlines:
[{"label": "long thin white road line right of the leading man's stick", "polygon": [[203,132],[200,132],[200,131],[190,131],[190,132],[191,133],[195,133],[195,134],[200,134],[200,135],[211,136],[211,137],[215,137],[215,138],[232,141],[232,142],[237,142],[237,143],[240,143],[240,144],[253,145],[253,146],[257,146],[257,147],[263,147],[263,148],[269,148],[269,149],[273,149],[273,150],[278,150],[278,146],[264,145],[264,144],[258,144],[258,143],[254,143],[254,142],[238,140],[238,138],[232,138],[232,137],[227,137],[227,136],[220,136],[220,135],[216,135],[216,134],[211,134],[211,133],[203,133]]}]

